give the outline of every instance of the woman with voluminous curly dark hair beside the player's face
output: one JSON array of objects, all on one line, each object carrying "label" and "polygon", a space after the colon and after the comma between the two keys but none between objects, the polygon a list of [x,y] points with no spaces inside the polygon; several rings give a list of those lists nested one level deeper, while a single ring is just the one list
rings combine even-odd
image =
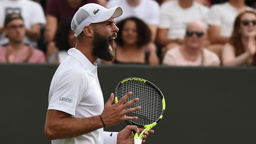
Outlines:
[{"label": "woman with voluminous curly dark hair beside the player's face", "polygon": [[[113,62],[133,65],[158,65],[156,46],[151,42],[151,31],[139,18],[130,17],[117,23],[116,58]],[[103,62],[107,63],[107,62]]]}]

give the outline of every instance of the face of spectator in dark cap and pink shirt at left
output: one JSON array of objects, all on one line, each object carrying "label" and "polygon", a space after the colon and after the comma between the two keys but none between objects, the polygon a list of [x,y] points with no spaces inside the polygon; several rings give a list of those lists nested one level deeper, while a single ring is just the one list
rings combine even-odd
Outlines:
[{"label": "face of spectator in dark cap and pink shirt at left", "polygon": [[13,43],[22,43],[25,36],[24,21],[21,19],[14,19],[10,21],[5,27],[9,41]]}]

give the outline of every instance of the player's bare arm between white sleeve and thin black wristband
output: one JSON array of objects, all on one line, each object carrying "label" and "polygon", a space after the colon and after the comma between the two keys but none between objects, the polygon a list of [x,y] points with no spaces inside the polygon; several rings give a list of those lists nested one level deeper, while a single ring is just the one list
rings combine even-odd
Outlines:
[{"label": "player's bare arm between white sleeve and thin black wristband", "polygon": [[47,117],[45,134],[47,139],[50,140],[68,139],[84,135],[101,127],[103,127],[103,123],[99,116],[79,119],[71,116],[56,117],[53,114]]}]

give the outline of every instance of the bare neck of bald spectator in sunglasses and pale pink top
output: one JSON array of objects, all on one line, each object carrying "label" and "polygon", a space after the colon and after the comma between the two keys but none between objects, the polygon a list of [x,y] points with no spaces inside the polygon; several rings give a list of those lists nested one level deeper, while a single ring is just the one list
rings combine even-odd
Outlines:
[{"label": "bare neck of bald spectator in sunglasses and pale pink top", "polygon": [[194,60],[197,60],[197,58],[200,56],[201,49],[182,46],[181,53],[183,54],[185,59],[194,61]]}]

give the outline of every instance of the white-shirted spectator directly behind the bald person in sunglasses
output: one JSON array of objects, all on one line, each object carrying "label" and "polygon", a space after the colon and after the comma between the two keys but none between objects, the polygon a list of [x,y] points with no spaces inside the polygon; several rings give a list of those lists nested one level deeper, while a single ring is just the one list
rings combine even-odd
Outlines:
[{"label": "white-shirted spectator directly behind the bald person in sunglasses", "polygon": [[209,8],[194,0],[168,1],[160,7],[158,44],[162,53],[184,43],[185,28],[191,21],[205,20]]}]

